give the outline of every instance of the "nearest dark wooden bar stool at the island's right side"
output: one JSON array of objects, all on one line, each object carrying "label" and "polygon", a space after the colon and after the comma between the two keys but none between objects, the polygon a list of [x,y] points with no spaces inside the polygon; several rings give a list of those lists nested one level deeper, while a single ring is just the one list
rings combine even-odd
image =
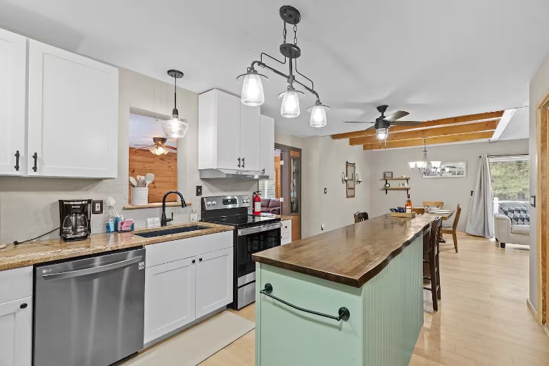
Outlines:
[{"label": "nearest dark wooden bar stool at the island's right side", "polygon": [[426,234],[423,237],[423,279],[431,282],[430,287],[424,286],[423,288],[431,291],[434,311],[438,311],[438,300],[441,299],[441,272],[438,259],[440,249],[438,229],[441,227],[441,222],[442,218],[437,217],[431,222],[429,235]]}]

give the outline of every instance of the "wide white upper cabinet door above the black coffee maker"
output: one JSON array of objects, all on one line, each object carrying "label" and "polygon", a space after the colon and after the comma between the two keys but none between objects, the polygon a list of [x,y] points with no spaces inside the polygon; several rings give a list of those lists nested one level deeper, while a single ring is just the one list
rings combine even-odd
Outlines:
[{"label": "wide white upper cabinet door above the black coffee maker", "polygon": [[28,175],[116,177],[118,69],[31,40],[28,85]]}]

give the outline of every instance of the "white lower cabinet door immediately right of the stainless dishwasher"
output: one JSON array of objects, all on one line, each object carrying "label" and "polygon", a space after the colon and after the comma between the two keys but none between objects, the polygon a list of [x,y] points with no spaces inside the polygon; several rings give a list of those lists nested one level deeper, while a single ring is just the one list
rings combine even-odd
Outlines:
[{"label": "white lower cabinet door immediately right of the stainless dishwasher", "polygon": [[145,343],[195,319],[195,284],[195,257],[146,268]]}]

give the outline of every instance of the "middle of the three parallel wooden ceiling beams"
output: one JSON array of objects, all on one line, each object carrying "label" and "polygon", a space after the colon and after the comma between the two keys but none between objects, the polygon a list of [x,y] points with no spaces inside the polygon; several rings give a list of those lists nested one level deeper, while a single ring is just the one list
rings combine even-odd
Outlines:
[{"label": "middle of the three parallel wooden ceiling beams", "polygon": [[[450,125],[446,127],[426,128],[407,132],[389,133],[387,142],[423,139],[424,137],[450,136],[453,134],[466,134],[470,132],[495,131],[499,120],[468,123],[467,125]],[[391,130],[389,130],[391,131]],[[356,137],[349,140],[350,145],[365,145],[379,143],[376,136]]]}]

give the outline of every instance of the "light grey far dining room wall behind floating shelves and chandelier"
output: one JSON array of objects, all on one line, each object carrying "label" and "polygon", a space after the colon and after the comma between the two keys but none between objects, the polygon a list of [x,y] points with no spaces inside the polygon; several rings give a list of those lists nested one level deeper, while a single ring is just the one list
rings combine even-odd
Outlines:
[{"label": "light grey far dining room wall behind floating shelves and chandelier", "polygon": [[[479,156],[481,154],[503,155],[528,153],[528,140],[477,142],[472,144],[453,144],[444,146],[427,146],[428,158],[442,161],[467,160],[466,178],[437,178],[424,179],[412,173],[408,161],[422,160],[422,147],[413,149],[391,149],[386,151],[367,151],[367,160],[370,166],[370,202],[372,203],[371,217],[389,212],[389,208],[405,206],[405,191],[381,190],[385,181],[384,171],[393,172],[393,177],[406,175],[410,177],[410,198],[415,207],[421,207],[423,201],[443,201],[447,208],[455,208],[457,203],[462,207],[462,215],[457,229],[465,231],[471,191],[479,170]],[[390,182],[391,186],[398,185],[398,181]]]}]

